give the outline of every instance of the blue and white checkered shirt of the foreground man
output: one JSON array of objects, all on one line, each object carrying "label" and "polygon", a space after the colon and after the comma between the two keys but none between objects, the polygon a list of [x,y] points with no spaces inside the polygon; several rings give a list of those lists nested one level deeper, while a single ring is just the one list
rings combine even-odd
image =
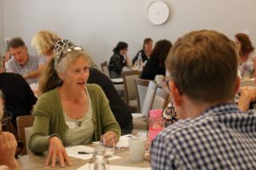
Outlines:
[{"label": "blue and white checkered shirt of the foreground man", "polygon": [[256,169],[256,111],[214,106],[167,127],[151,147],[152,169]]}]

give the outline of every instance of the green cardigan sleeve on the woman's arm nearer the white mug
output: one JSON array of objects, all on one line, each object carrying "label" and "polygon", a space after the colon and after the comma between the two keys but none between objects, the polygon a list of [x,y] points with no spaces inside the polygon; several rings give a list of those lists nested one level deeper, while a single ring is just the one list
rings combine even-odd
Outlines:
[{"label": "green cardigan sleeve on the woman's arm nearer the white mug", "polygon": [[121,130],[119,123],[116,122],[113,113],[109,107],[108,98],[102,91],[102,88],[97,86],[99,91],[99,101],[100,101],[100,111],[101,111],[101,122],[102,122],[102,133],[107,133],[108,131],[113,131],[120,136]]}]

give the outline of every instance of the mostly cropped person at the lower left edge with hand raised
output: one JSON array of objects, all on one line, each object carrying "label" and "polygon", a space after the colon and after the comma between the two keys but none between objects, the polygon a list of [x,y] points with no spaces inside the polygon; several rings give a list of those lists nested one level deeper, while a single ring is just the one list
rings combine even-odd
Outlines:
[{"label": "mostly cropped person at the lower left edge with hand raised", "polygon": [[[0,93],[2,94],[2,93]],[[0,120],[3,118],[3,98],[0,96]],[[0,121],[0,170],[19,170],[18,162],[15,160],[17,142],[14,134],[2,132]]]}]

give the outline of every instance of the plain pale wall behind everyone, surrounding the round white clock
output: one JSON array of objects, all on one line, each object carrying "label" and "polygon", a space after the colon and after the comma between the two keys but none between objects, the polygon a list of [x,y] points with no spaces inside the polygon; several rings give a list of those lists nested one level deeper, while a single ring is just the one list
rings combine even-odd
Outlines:
[{"label": "plain pale wall behind everyone, surrounding the round white clock", "polygon": [[129,43],[132,58],[145,37],[174,42],[197,29],[221,31],[230,38],[247,29],[256,46],[255,0],[166,0],[172,16],[162,26],[147,20],[145,10],[151,1],[3,0],[4,37],[20,36],[30,45],[37,31],[54,31],[82,45],[97,64],[109,59],[119,41]]}]

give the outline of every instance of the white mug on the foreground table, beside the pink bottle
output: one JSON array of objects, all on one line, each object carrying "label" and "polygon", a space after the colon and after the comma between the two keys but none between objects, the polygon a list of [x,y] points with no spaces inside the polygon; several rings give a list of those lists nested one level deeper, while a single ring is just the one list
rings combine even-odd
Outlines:
[{"label": "white mug on the foreground table, beside the pink bottle", "polygon": [[147,139],[129,139],[131,161],[143,161]]}]

